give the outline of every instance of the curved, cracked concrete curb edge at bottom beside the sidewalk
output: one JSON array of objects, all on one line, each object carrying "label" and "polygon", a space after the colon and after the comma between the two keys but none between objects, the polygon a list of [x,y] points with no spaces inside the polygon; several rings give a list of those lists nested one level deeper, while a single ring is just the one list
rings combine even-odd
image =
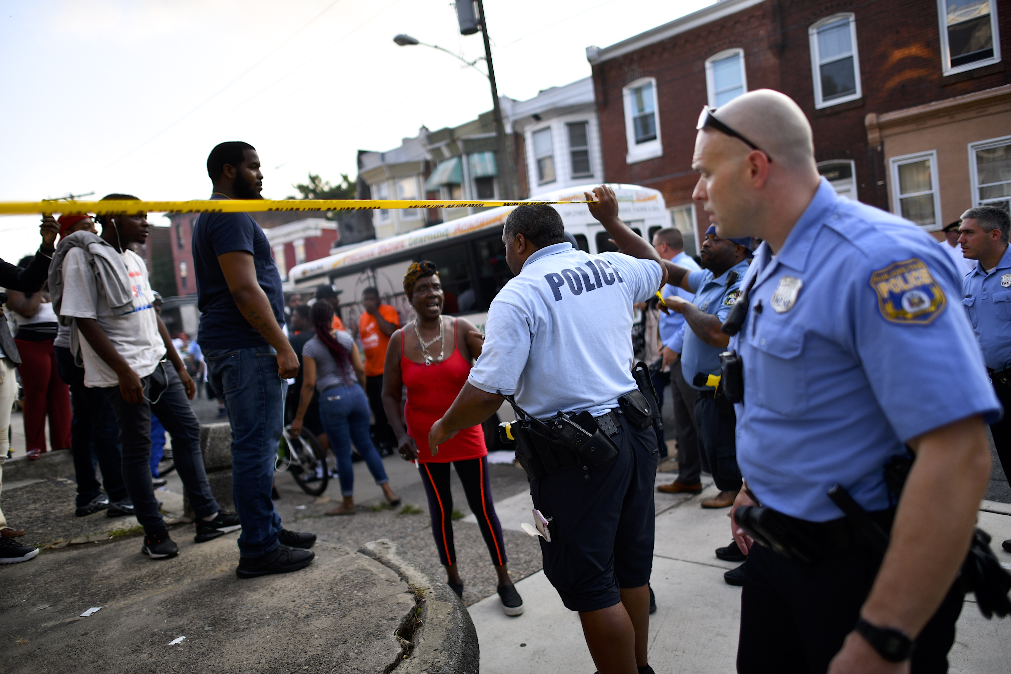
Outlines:
[{"label": "curved, cracked concrete curb edge at bottom beside the sidewalk", "polygon": [[405,554],[392,541],[371,541],[358,552],[395,571],[418,596],[420,624],[413,636],[404,640],[408,641],[405,644],[405,651],[409,652],[407,658],[392,671],[397,674],[478,674],[477,632],[456,593],[446,583],[435,580],[435,574],[427,565]]}]

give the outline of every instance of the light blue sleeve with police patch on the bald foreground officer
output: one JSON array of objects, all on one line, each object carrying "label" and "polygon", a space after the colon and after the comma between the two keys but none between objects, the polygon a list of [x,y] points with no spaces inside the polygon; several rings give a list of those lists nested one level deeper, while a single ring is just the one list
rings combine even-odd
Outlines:
[{"label": "light blue sleeve with police patch on the bald foreground officer", "polygon": [[852,347],[878,403],[903,442],[975,414],[995,421],[1001,406],[953,270],[940,256],[902,253],[867,265],[846,293]]}]

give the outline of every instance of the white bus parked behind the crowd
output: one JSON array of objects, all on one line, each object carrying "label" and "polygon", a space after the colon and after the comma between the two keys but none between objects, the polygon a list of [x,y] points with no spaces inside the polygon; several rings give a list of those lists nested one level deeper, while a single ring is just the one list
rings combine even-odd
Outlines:
[{"label": "white bus parked behind the crowd", "polygon": [[[536,201],[584,199],[583,191],[595,185],[573,187],[538,196]],[[619,216],[637,233],[652,238],[653,232],[670,226],[670,214],[657,190],[637,185],[612,185],[618,196]],[[467,318],[484,330],[488,305],[513,278],[505,265],[502,226],[515,206],[499,206],[442,224],[404,234],[366,242],[337,251],[334,255],[293,267],[288,279],[298,291],[310,292],[331,283],[341,291],[341,319],[352,334],[358,333],[362,314],[362,291],[375,287],[384,304],[391,304],[401,320],[411,319],[413,310],[403,294],[403,275],[412,262],[431,260],[439,267],[446,292],[443,311]],[[614,251],[604,226],[589,214],[584,203],[554,206],[566,231],[579,248],[596,254]],[[401,323],[402,324],[402,323]]]}]

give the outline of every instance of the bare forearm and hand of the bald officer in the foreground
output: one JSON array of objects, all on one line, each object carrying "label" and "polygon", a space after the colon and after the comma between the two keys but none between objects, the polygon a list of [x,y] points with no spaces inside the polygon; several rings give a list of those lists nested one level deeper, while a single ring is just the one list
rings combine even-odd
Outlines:
[{"label": "bare forearm and hand of the bald officer in the foreground", "polygon": [[[990,452],[979,416],[909,441],[916,461],[903,488],[892,542],[860,610],[879,628],[915,639],[947,594],[966,559],[980,499],[990,480]],[[851,633],[830,674],[877,671],[877,652]]]}]

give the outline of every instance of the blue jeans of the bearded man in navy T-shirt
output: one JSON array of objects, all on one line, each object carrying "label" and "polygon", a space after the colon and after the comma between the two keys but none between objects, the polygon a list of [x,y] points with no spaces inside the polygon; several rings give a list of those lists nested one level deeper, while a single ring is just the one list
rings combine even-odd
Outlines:
[{"label": "blue jeans of the bearded man in navy T-shirt", "polygon": [[281,531],[270,490],[288,385],[277,374],[273,347],[207,349],[203,356],[232,424],[232,495],[243,525],[239,553],[261,557],[277,548]]}]

